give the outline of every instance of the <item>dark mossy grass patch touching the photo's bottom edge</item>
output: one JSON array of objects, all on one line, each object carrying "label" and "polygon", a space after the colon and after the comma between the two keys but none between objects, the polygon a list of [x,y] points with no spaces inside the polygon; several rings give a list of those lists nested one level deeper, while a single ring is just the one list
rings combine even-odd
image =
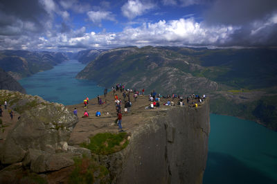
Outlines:
[{"label": "dark mossy grass patch touching the photo's bottom edge", "polygon": [[[75,158],[74,169],[69,176],[69,183],[110,183],[109,170],[89,158]],[[97,174],[96,174],[97,173]]]}]

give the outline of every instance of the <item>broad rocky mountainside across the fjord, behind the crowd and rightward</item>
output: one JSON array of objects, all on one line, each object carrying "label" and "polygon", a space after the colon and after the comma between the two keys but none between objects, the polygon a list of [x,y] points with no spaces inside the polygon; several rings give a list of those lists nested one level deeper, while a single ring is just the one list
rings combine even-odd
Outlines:
[{"label": "broad rocky mountainside across the fjord, behind the crowd and rightward", "polygon": [[[127,47],[107,50],[76,76],[158,93],[206,93],[211,112],[277,130],[277,50]],[[276,102],[276,103],[274,103]]]}]

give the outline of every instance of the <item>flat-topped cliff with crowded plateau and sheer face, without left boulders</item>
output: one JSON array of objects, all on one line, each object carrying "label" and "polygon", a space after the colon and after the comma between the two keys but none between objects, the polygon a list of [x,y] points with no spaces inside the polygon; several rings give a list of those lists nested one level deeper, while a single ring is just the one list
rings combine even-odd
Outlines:
[{"label": "flat-topped cliff with crowded plateau and sheer face, without left boulders", "polygon": [[[100,111],[101,117],[80,118],[69,144],[87,142],[100,132],[118,132],[114,96],[109,93],[102,100],[107,104],[89,105],[87,109],[92,115]],[[209,100],[197,109],[187,103],[182,107],[162,105],[166,98],[161,98],[161,107],[145,109],[150,103],[147,97],[140,95],[136,102],[131,100],[131,111],[123,113],[122,123],[129,134],[129,145],[114,154],[93,154],[109,169],[112,183],[202,183],[210,131]],[[177,104],[177,99],[173,101]],[[97,99],[89,100],[89,104],[96,103]],[[82,104],[68,108],[74,107],[80,109]],[[78,111],[78,116],[82,113]]]}]

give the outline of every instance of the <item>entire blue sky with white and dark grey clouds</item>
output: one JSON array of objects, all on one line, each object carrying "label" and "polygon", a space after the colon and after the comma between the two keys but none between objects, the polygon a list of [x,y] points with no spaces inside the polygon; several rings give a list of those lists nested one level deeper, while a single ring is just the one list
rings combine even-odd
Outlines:
[{"label": "entire blue sky with white and dark grey clouds", "polygon": [[0,49],[276,47],[277,0],[3,0]]}]

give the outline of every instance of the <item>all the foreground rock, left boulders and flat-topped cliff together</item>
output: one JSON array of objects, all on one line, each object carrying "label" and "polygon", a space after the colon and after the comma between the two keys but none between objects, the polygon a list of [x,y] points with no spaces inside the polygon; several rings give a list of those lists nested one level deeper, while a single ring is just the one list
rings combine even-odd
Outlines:
[{"label": "all the foreground rock, left boulders and flat-topped cliff together", "polygon": [[[104,105],[91,105],[97,99],[89,101],[87,111],[93,114],[98,109],[101,117],[79,121],[70,111],[72,107],[82,108],[82,104],[64,107],[10,91],[0,91],[0,97],[21,117],[11,120],[9,133],[0,141],[1,183],[32,183],[37,178],[48,183],[72,183],[72,168],[78,168],[72,167],[73,158],[91,157],[89,149],[78,147],[80,142],[98,133],[118,132],[112,93]],[[161,99],[161,104],[166,100]],[[210,131],[209,100],[198,108],[185,104],[145,109],[149,104],[145,96],[132,102],[132,113],[123,114],[129,145],[114,154],[92,153],[94,163],[89,166],[89,160],[83,161],[79,172],[89,174],[93,183],[202,183]],[[78,111],[78,116],[82,113]]]}]

